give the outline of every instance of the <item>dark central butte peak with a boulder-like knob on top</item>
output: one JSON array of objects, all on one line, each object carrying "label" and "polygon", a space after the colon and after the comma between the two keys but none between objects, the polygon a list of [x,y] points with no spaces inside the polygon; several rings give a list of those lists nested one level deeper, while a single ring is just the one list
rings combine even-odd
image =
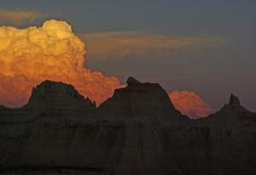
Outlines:
[{"label": "dark central butte peak with a boulder-like knob on top", "polygon": [[126,119],[166,121],[184,118],[159,84],[139,82],[133,77],[127,79],[127,87],[116,89],[113,97],[101,104],[99,111],[108,111],[108,116]]}]

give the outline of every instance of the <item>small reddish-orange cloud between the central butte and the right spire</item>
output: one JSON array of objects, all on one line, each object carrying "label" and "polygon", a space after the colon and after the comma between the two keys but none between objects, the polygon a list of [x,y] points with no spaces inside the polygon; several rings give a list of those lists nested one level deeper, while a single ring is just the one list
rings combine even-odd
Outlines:
[{"label": "small reddish-orange cloud between the central butte and the right spire", "polygon": [[177,110],[191,117],[206,117],[212,108],[193,91],[173,91],[169,96]]}]

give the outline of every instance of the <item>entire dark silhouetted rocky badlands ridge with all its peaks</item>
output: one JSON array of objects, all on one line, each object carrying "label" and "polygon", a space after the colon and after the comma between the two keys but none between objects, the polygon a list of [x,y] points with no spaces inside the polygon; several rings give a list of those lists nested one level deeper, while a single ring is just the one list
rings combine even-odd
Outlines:
[{"label": "entire dark silhouetted rocky badlands ridge with all its peaks", "polygon": [[235,95],[190,120],[157,83],[130,77],[98,108],[44,81],[20,109],[0,106],[0,174],[256,173],[256,114]]}]

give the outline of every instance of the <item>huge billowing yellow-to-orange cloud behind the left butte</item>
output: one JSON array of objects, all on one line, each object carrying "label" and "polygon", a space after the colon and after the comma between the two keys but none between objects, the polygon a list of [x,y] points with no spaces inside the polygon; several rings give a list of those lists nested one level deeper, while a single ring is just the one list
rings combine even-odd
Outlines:
[{"label": "huge billowing yellow-to-orange cloud behind the left butte", "polygon": [[85,46],[64,21],[42,27],[0,27],[0,104],[26,104],[32,87],[45,79],[73,84],[101,103],[121,85],[117,78],[84,68]]}]

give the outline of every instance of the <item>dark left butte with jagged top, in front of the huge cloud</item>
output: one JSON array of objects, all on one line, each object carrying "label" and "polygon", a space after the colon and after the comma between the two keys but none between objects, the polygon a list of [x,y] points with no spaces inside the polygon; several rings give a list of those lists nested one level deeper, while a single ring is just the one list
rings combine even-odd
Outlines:
[{"label": "dark left butte with jagged top, in front of the huge cloud", "polygon": [[87,109],[95,108],[90,99],[84,99],[72,86],[63,82],[46,80],[32,89],[32,96],[25,108],[31,109]]}]

